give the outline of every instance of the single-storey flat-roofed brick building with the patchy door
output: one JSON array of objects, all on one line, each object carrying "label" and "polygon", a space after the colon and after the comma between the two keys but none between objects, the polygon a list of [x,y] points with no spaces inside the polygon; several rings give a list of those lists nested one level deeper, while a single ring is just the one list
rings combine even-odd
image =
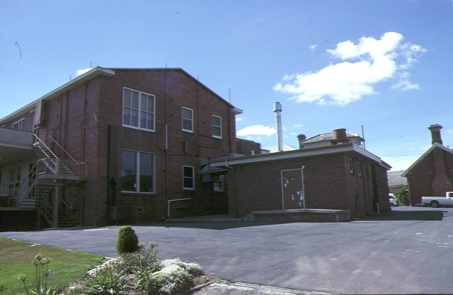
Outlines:
[{"label": "single-storey flat-roofed brick building with the patchy door", "polygon": [[294,151],[230,157],[211,165],[228,171],[231,217],[294,209],[346,210],[352,218],[361,217],[377,212],[376,204],[379,212],[389,210],[386,172],[391,168],[362,141],[337,129],[310,139],[299,136]]}]

